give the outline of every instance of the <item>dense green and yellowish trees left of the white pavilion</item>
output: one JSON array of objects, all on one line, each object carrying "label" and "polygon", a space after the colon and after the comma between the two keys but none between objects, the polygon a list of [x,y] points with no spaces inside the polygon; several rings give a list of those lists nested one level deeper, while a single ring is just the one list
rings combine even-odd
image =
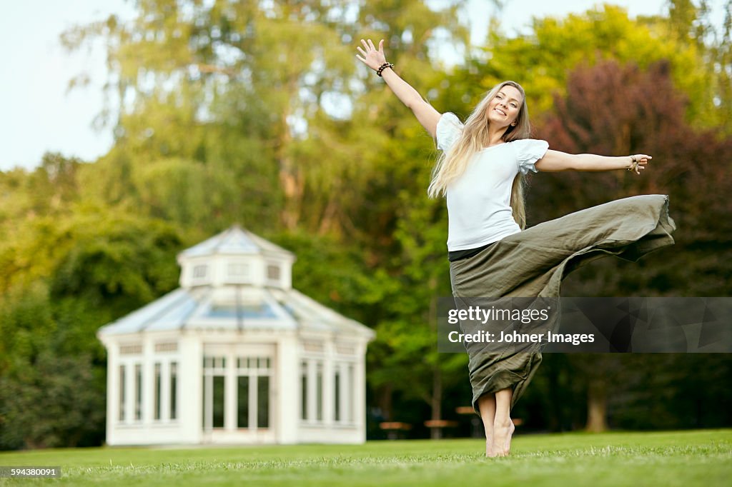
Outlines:
[{"label": "dense green and yellowish trees left of the white pavilion", "polygon": [[0,448],[98,445],[106,358],[96,332],[176,286],[177,230],[75,210],[31,219],[0,249]]}]

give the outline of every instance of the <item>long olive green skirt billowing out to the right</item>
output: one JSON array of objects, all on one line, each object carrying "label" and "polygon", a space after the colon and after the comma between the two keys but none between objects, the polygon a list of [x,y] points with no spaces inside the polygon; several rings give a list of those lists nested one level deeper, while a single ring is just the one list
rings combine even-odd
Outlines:
[{"label": "long olive green skirt billowing out to the right", "polygon": [[[673,244],[668,196],[611,201],[537,224],[493,243],[479,254],[450,263],[452,294],[459,298],[559,297],[561,280],[606,255],[635,261]],[[513,389],[511,407],[542,361],[540,352],[496,353],[468,346],[473,407],[488,393]]]}]

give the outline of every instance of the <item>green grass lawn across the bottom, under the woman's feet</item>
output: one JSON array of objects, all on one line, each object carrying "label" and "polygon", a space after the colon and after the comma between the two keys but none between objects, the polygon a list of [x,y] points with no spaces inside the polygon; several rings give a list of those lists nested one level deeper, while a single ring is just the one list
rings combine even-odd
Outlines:
[{"label": "green grass lawn across the bottom, under the woman's feet", "polygon": [[83,448],[0,453],[0,466],[60,466],[72,486],[732,485],[732,430],[516,435],[508,458],[479,439],[237,448]]}]

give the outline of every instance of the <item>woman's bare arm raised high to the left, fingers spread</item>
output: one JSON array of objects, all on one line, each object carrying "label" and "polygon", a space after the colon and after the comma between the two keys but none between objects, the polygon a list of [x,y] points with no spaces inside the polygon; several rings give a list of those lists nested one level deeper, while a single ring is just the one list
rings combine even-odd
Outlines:
[{"label": "woman's bare arm raised high to the left, fingers spread", "polygon": [[[363,45],[363,48],[360,46],[356,48],[359,53],[361,53],[361,56],[356,54],[356,58],[358,58],[359,61],[366,64],[367,67],[370,67],[374,71],[386,63],[386,56],[384,56],[384,39],[381,39],[378,43],[378,49],[373,45],[371,39],[368,39],[368,41],[361,39],[361,44]],[[437,130],[437,122],[442,114],[435,110],[432,105],[425,102],[422,95],[420,95],[416,89],[412,88],[409,83],[400,78],[399,75],[394,72],[394,69],[384,69],[384,71],[381,72],[381,77],[384,78],[384,81],[386,81],[389,88],[391,88],[394,94],[397,95],[397,98],[412,110],[412,113],[417,117],[417,121],[422,124],[422,127],[425,127],[427,132],[430,132],[430,135],[434,138]]]}]

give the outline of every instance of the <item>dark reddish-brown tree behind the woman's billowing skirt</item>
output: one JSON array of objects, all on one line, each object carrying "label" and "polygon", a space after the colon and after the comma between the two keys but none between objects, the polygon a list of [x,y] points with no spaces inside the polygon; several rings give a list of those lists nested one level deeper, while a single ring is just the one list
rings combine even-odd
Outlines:
[{"label": "dark reddish-brown tree behind the woman's billowing skirt", "polygon": [[[665,259],[649,256],[632,265],[593,264],[567,280],[567,295],[732,292],[722,281],[722,275],[732,271],[731,247],[722,237],[732,235],[725,218],[732,211],[725,198],[732,188],[732,140],[719,140],[714,132],[700,132],[680,122],[685,104],[664,62],[641,70],[606,61],[569,75],[567,95],[556,97],[556,115],[538,127],[540,138],[571,154],[644,153],[654,159],[641,178],[625,171],[538,175],[529,195],[529,208],[534,208],[531,220],[551,219],[639,192],[661,192],[671,195],[671,215],[679,230],[674,234],[673,259],[668,259],[671,251],[665,251]],[[698,279],[702,275],[705,279]],[[586,380],[587,429],[602,431],[607,428],[607,391],[624,382],[638,383],[640,363],[622,355],[570,355],[569,360]]]}]

